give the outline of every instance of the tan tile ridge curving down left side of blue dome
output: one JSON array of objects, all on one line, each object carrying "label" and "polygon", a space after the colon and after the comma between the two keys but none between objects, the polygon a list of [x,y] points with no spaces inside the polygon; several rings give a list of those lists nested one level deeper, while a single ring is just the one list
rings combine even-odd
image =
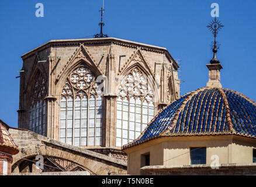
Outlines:
[{"label": "tan tile ridge curving down left side of blue dome", "polygon": [[[186,99],[184,99],[184,102],[182,102],[181,106],[179,107],[179,109],[177,110],[177,112],[174,115],[174,119],[172,120],[171,126],[168,127],[168,129],[162,131],[158,136],[164,136],[164,134],[168,134],[171,129],[175,126],[175,124],[177,123],[178,117],[179,117],[179,113],[181,113],[181,110],[184,109],[184,106],[186,106],[186,103],[189,101],[189,99],[192,98],[193,95],[195,95],[196,93],[198,93],[199,91],[202,91],[203,89],[206,89],[206,87],[203,88],[199,88],[196,89],[195,91],[189,92],[187,93],[188,97]],[[169,124],[168,124],[169,125]]]}]

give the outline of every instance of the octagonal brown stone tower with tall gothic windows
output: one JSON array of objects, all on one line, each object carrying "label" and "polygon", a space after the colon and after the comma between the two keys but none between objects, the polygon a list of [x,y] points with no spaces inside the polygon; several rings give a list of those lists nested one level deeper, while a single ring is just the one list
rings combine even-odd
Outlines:
[{"label": "octagonal brown stone tower with tall gothic windows", "polygon": [[74,146],[120,150],[179,97],[178,65],[162,47],[51,40],[22,59],[18,127]]}]

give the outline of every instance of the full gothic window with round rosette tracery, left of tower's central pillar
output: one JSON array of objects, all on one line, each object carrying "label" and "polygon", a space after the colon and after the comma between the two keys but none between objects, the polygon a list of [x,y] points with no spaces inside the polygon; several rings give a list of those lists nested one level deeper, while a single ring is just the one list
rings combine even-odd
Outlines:
[{"label": "full gothic window with round rosette tracery, left of tower's central pillar", "polygon": [[102,145],[102,96],[85,65],[71,72],[60,102],[60,141],[74,146]]}]

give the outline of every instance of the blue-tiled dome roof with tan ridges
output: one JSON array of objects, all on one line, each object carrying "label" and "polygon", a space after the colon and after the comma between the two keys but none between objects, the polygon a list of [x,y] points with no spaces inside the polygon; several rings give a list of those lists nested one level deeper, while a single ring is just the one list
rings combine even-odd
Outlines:
[{"label": "blue-tiled dome roof with tan ridges", "polygon": [[241,93],[205,87],[171,103],[123,148],[164,136],[224,134],[256,138],[256,104]]}]

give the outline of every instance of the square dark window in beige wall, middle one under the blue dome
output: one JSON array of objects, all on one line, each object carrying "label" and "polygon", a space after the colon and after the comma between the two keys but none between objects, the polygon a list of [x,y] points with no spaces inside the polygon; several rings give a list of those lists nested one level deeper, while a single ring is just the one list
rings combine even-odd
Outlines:
[{"label": "square dark window in beige wall, middle one under the blue dome", "polygon": [[206,147],[190,148],[191,164],[206,164]]}]

